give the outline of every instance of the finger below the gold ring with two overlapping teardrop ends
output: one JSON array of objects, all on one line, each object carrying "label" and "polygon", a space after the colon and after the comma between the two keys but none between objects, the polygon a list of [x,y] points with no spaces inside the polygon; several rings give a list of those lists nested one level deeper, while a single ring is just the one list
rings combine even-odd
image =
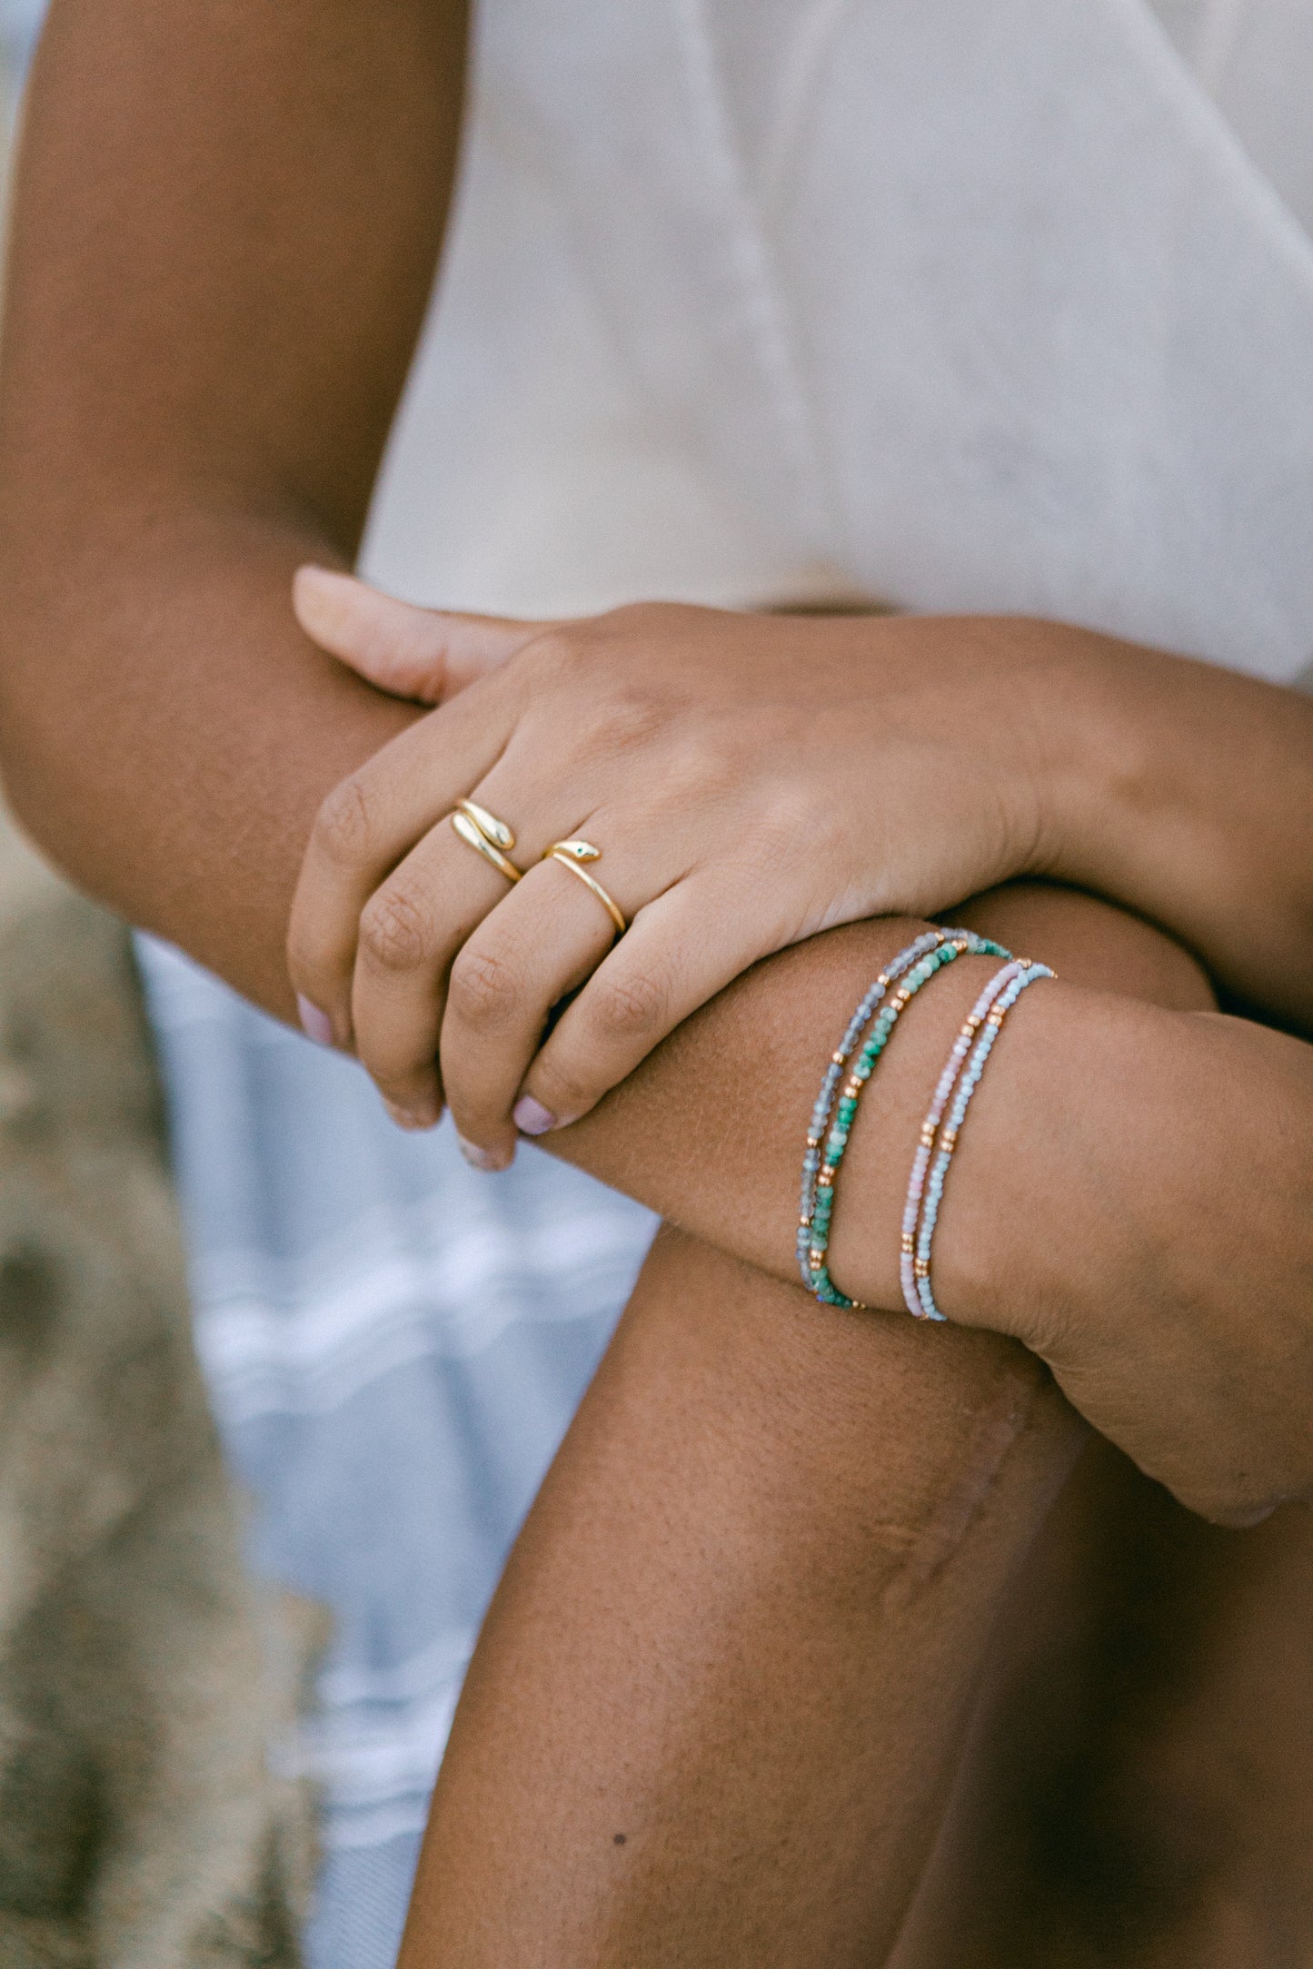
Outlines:
[{"label": "finger below the gold ring with two overlapping teardrop ends", "polygon": [[431,1128],[441,1114],[437,1042],[453,959],[508,894],[506,876],[443,819],[360,914],[352,1030],[392,1118]]}]

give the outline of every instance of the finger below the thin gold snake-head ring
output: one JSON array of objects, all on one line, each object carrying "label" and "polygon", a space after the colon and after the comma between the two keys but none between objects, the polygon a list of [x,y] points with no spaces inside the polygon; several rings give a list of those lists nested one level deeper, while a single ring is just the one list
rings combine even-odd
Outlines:
[{"label": "finger below the thin gold snake-head ring", "polygon": [[486,1166],[504,1168],[514,1154],[510,1109],[551,1008],[583,984],[614,937],[596,896],[569,868],[545,860],[457,957],[443,1016],[443,1083],[461,1140]]}]

